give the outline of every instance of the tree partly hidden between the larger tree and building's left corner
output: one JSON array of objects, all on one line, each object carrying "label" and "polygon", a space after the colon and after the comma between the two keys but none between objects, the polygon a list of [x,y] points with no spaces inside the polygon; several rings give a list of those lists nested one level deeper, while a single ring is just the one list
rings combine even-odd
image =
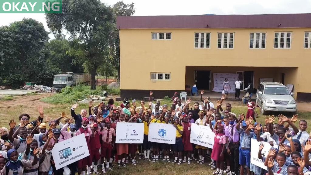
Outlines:
[{"label": "tree partly hidden between the larger tree and building's left corner", "polygon": [[118,72],[118,81],[120,82],[120,33],[117,29],[117,16],[131,16],[134,14],[134,3],[124,4],[123,1],[119,1],[113,5],[114,11],[114,26],[111,34],[110,50],[111,63],[114,65]]}]

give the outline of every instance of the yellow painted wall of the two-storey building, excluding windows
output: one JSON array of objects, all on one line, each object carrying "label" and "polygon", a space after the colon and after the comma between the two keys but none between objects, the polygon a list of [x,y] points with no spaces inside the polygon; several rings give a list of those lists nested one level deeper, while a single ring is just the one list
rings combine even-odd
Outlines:
[{"label": "yellow painted wall of the two-storey building, excluding windows", "polygon": [[[291,49],[273,48],[276,31],[292,32]],[[233,66],[251,67],[248,70],[253,67],[285,67],[271,70],[271,73],[279,74],[273,76],[281,81],[280,73],[285,71],[291,74],[285,78],[296,82],[297,92],[311,92],[305,76],[310,72],[307,65],[311,63],[311,50],[303,48],[304,31],[311,31],[311,28],[121,29],[121,90],[184,90],[185,84],[191,82],[187,80],[187,76],[191,78],[191,75],[186,75],[186,66]],[[151,32],[171,32],[172,39],[151,40]],[[211,32],[210,49],[194,48],[195,32]],[[234,32],[234,49],[217,49],[217,32]],[[266,49],[249,49],[250,32],[267,32]],[[298,69],[286,70],[286,67]],[[215,71],[230,73],[239,70],[228,68]],[[269,75],[264,68],[254,71],[255,82],[258,81],[257,76],[267,78]],[[171,73],[171,80],[151,81],[151,72]]]}]

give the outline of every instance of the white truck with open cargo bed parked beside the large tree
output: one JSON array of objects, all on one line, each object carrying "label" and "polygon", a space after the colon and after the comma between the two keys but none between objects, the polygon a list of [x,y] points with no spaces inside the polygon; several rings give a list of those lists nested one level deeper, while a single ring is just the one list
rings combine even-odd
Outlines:
[{"label": "white truck with open cargo bed parked beside the large tree", "polygon": [[90,82],[90,74],[88,73],[72,73],[72,72],[60,72],[54,75],[53,85],[58,92],[66,86],[75,86],[79,83]]}]

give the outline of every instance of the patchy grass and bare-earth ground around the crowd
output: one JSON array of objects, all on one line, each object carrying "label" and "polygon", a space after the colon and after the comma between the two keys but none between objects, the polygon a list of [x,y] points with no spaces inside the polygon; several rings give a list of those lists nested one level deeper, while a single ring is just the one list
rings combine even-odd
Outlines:
[{"label": "patchy grass and bare-earth ground around the crowd", "polygon": [[[67,113],[67,116],[70,116],[70,108],[75,103],[75,98],[77,97],[84,97],[85,92],[88,92],[87,89],[84,87],[80,87],[80,90],[77,92],[71,91],[68,92],[70,94],[70,97],[66,95],[61,94],[31,94],[28,96],[22,96],[22,97],[8,97],[6,100],[0,100],[0,126],[1,127],[7,127],[9,128],[9,120],[11,118],[14,118],[16,124],[19,124],[18,122],[18,116],[21,113],[28,113],[30,115],[30,121],[35,120],[36,117],[39,115],[37,107],[38,106],[44,106],[44,116],[51,116],[53,119],[61,116],[62,111],[65,111]],[[99,91],[96,91],[96,93],[100,93]],[[55,97],[54,97],[55,96]],[[72,97],[73,96],[73,97]],[[10,99],[11,98],[11,99]],[[65,99],[65,101],[61,101]],[[69,101],[69,102],[68,102]],[[107,102],[107,101],[106,101]],[[137,107],[140,106],[140,101],[137,101]],[[247,107],[242,104],[242,102],[230,102],[230,101],[224,101],[223,106],[225,106],[225,103],[231,103],[232,104],[232,111],[239,115],[240,113],[246,114]],[[115,104],[120,104],[121,102],[115,102]],[[154,102],[155,103],[155,102]],[[201,103],[201,102],[200,102]],[[216,104],[216,102],[213,102]],[[161,100],[161,105],[168,104],[170,107],[170,104],[172,102],[169,98],[165,98]],[[96,105],[96,104],[95,104]],[[146,106],[148,106],[148,103],[146,102]],[[79,104],[79,107],[76,108],[76,113],[79,113],[81,109],[87,109],[88,104]],[[260,121],[261,123],[264,123],[264,116],[260,114],[259,108],[257,108],[257,111],[259,113],[259,117],[256,119]],[[277,115],[277,114],[275,114]],[[308,123],[311,123],[311,112],[298,112],[299,120],[304,119]],[[291,117],[291,116],[288,116]],[[297,122],[296,125],[298,126]],[[311,126],[307,129],[308,132],[310,132]],[[172,158],[171,158],[172,160]],[[198,163],[191,163],[191,165],[187,165],[186,163],[183,163],[182,165],[175,165],[173,163],[163,163],[162,161],[159,161],[158,163],[151,163],[151,162],[144,162],[143,160],[138,160],[137,166],[134,167],[128,164],[126,168],[118,168],[114,167],[112,172],[107,172],[109,175],[142,175],[142,174],[154,174],[154,175],[189,175],[189,174],[211,174],[211,168],[208,166],[209,160],[205,161],[205,164],[200,165]]]}]

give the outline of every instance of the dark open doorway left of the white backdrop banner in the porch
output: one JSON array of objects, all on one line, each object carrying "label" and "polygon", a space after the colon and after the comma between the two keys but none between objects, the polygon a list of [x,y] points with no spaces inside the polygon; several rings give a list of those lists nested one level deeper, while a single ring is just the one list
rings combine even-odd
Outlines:
[{"label": "dark open doorway left of the white backdrop banner in the porch", "polygon": [[195,75],[195,81],[196,81],[195,83],[197,83],[197,89],[209,91],[211,71],[196,70],[194,75]]}]

